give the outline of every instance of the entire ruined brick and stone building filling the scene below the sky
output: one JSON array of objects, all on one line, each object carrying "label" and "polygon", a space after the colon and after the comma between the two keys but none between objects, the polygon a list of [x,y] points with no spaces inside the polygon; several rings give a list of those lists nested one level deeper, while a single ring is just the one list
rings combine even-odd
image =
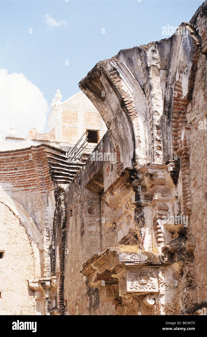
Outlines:
[{"label": "entire ruined brick and stone building filling the scene below the sky", "polygon": [[1,310],[204,313],[206,82],[207,1],[171,37],[98,62],[79,83],[97,110],[57,92],[51,130],[1,150]]}]

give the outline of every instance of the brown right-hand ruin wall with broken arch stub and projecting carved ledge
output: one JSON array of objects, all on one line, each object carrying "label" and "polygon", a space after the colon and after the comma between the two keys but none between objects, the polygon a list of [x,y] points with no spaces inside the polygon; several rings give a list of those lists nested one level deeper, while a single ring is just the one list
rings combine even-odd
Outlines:
[{"label": "brown right-hand ruin wall with broken arch stub and projecting carved ledge", "polygon": [[[205,1],[191,23],[182,23],[169,39],[122,50],[112,59],[98,62],[79,84],[109,130],[110,137],[104,137],[95,151],[115,151],[118,161],[88,160],[65,192],[72,214],[66,229],[69,256],[64,274],[69,314],[93,314],[85,301],[91,285],[99,289],[101,300],[109,301],[109,283],[102,287],[102,279],[111,285],[114,282],[111,299],[119,314],[139,310],[142,314],[197,314],[198,308],[206,306],[206,130],[199,128],[202,120],[206,125],[207,116],[206,10]],[[126,251],[133,250],[126,235],[129,224],[124,224],[125,232],[107,227],[108,222],[117,226],[125,218],[114,196],[119,191],[125,199],[135,201],[147,222],[142,253],[160,258],[161,266],[153,262],[144,269],[138,267],[143,255],[137,253],[138,260],[131,263],[137,286],[133,281],[130,289],[135,287],[138,293],[140,282],[143,290],[144,277],[151,275],[157,289],[151,298],[138,296],[135,289],[126,291],[129,267],[125,265],[123,276],[120,262],[116,263],[122,261],[120,244]],[[168,215],[174,220],[163,221]],[[183,221],[188,217],[187,223],[176,223],[176,216]],[[118,255],[113,262],[116,253],[109,248],[115,246]],[[133,256],[127,258],[133,260]],[[81,262],[85,262],[82,272],[87,287],[78,274]],[[119,296],[115,296],[117,287]],[[153,293],[149,288],[145,294],[150,289]],[[130,297],[133,291],[136,294]],[[84,300],[79,303],[81,297]],[[107,311],[107,305],[97,304],[93,312],[117,313]]]}]

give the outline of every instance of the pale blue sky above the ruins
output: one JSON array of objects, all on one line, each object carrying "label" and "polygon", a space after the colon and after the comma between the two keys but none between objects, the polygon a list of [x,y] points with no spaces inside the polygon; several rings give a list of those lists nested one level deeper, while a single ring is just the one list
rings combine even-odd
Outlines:
[{"label": "pale blue sky above the ruins", "polygon": [[23,73],[48,104],[58,88],[62,100],[78,92],[78,82],[98,61],[120,49],[168,37],[162,35],[163,26],[189,21],[202,4],[201,0],[66,1],[0,0],[0,68],[8,69],[8,74]]}]

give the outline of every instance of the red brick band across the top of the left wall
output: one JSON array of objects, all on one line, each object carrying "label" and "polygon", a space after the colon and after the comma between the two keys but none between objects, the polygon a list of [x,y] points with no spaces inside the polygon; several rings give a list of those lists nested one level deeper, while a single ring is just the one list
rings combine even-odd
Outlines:
[{"label": "red brick band across the top of the left wall", "polygon": [[[65,154],[65,151],[46,145],[0,152],[0,183],[6,190],[45,193],[54,188],[48,156]],[[58,160],[58,159],[56,159]]]}]

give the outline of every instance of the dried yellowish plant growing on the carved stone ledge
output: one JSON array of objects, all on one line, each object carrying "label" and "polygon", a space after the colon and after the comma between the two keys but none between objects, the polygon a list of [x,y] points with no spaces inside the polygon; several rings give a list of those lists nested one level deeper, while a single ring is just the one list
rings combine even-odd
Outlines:
[{"label": "dried yellowish plant growing on the carved stone ledge", "polygon": [[107,226],[119,230],[121,229],[126,233],[127,237],[131,238],[132,241],[136,243],[138,248],[143,249],[145,231],[143,231],[142,228],[146,228],[147,226],[147,222],[143,217],[143,212],[140,212],[138,207],[134,204],[134,201],[129,199],[130,195],[128,195],[127,201],[121,196],[120,191],[118,193],[114,192],[114,195],[119,197],[119,207],[122,207],[122,210],[127,214],[124,221],[132,224],[130,232],[133,233],[133,235],[123,229],[124,221],[122,219],[118,221],[120,226],[115,225],[112,221],[107,223]]}]

